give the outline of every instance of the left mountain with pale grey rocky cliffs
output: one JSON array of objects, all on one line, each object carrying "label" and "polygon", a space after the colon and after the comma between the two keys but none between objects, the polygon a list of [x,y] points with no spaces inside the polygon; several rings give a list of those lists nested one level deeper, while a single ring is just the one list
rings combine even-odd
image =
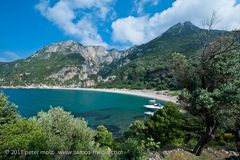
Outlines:
[{"label": "left mountain with pale grey rocky cliffs", "polygon": [[1,85],[91,86],[99,69],[120,59],[122,52],[74,41],[45,46],[24,60],[0,64]]}]

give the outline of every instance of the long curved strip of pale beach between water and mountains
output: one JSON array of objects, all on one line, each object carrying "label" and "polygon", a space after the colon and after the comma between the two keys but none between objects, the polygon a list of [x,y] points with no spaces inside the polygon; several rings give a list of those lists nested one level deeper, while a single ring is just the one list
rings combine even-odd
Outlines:
[{"label": "long curved strip of pale beach between water and mountains", "polygon": [[18,87],[9,87],[9,86],[0,86],[0,89],[53,89],[53,90],[79,90],[79,91],[94,91],[94,92],[108,92],[108,93],[117,93],[117,94],[126,94],[139,97],[146,97],[157,99],[166,102],[177,103],[176,96],[169,96],[164,94],[165,91],[154,91],[154,90],[133,90],[133,89],[117,89],[117,88],[75,88],[75,87],[49,87],[49,86],[18,86]]}]

